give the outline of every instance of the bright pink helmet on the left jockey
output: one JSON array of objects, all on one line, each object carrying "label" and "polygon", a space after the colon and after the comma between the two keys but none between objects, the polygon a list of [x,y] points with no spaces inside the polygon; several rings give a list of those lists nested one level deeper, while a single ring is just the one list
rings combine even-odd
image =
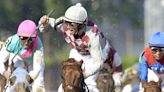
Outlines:
[{"label": "bright pink helmet on the left jockey", "polygon": [[24,20],[19,24],[17,34],[22,37],[36,37],[36,24],[32,20]]}]

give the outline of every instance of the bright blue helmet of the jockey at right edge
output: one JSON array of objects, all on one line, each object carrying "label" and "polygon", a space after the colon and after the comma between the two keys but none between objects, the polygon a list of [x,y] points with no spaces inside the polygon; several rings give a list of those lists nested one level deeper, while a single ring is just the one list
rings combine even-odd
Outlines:
[{"label": "bright blue helmet of the jockey at right edge", "polygon": [[164,47],[164,32],[156,32],[152,35],[149,46]]}]

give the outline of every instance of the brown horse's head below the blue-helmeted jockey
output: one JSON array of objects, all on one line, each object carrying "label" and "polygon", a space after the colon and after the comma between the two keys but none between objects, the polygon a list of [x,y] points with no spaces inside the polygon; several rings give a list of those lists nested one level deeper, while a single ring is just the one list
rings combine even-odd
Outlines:
[{"label": "brown horse's head below the blue-helmeted jockey", "polygon": [[161,80],[158,82],[150,81],[144,84],[144,92],[162,92],[161,91]]}]

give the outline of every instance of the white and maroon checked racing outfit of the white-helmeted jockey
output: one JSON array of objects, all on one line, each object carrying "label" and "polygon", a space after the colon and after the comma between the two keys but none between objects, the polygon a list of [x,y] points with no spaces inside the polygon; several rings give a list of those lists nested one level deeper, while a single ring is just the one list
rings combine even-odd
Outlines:
[{"label": "white and maroon checked racing outfit of the white-helmeted jockey", "polygon": [[[49,18],[48,24],[41,25],[39,29],[41,32],[48,31],[47,29],[55,27],[55,23],[56,21],[54,18]],[[88,21],[87,25],[78,30],[79,33],[76,34],[71,34],[71,30],[64,23],[59,24],[55,29],[56,31],[64,34],[66,42],[72,47],[69,58],[74,58],[77,61],[84,61],[82,69],[85,70],[84,74],[87,76],[87,78],[85,78],[85,82],[87,85],[90,85],[89,89],[97,89],[95,81],[97,74],[106,59],[109,57],[108,54],[111,46],[108,40],[104,37],[103,33],[98,30],[98,27],[91,21]],[[112,66],[120,66],[121,59],[119,55],[115,53],[112,56]]]}]

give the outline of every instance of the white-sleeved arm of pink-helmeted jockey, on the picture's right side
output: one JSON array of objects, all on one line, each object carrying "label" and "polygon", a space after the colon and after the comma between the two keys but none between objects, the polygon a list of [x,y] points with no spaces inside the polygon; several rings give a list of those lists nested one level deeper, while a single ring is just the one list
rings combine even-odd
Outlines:
[{"label": "white-sleeved arm of pink-helmeted jockey, on the picture's right side", "polygon": [[29,71],[29,75],[35,80],[40,71],[45,68],[43,48],[36,50],[33,56],[33,70]]}]

